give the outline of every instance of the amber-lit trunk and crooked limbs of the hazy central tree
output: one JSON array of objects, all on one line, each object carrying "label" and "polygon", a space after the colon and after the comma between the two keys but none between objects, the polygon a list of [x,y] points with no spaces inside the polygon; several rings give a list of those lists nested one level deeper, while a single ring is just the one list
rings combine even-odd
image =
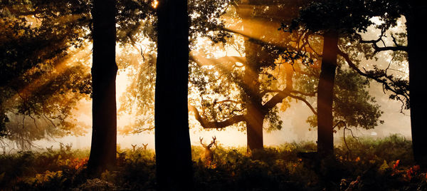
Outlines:
[{"label": "amber-lit trunk and crooked limbs of the hazy central tree", "polygon": [[[209,122],[209,120],[216,121],[216,114],[211,116],[211,118],[206,118],[206,113],[199,113],[199,111],[195,107],[191,107],[191,111],[195,114],[196,120],[199,120],[201,126],[204,128],[217,128],[221,129],[228,125],[233,125],[236,123],[244,122],[246,125],[246,133],[247,133],[247,143],[248,143],[248,151],[257,150],[263,148],[263,123],[264,119],[271,119],[272,126],[280,127],[280,120],[278,120],[278,115],[275,115],[272,110],[275,110],[275,105],[281,103],[283,98],[288,97],[286,93],[278,93],[276,92],[263,92],[263,86],[260,81],[260,76],[266,74],[266,70],[268,68],[274,68],[274,60],[278,58],[278,55],[284,51],[288,51],[285,48],[284,42],[280,37],[283,35],[278,35],[275,33],[273,27],[274,25],[280,24],[280,21],[288,20],[292,13],[290,13],[291,8],[295,6],[295,2],[255,2],[255,1],[236,1],[233,2],[233,8],[236,9],[236,14],[242,19],[242,23],[238,24],[238,26],[228,26],[227,28],[222,28],[221,31],[227,31],[229,33],[236,33],[243,36],[243,44],[244,51],[246,56],[225,56],[223,58],[218,59],[204,59],[200,56],[194,56],[193,61],[198,63],[199,66],[219,66],[223,64],[223,68],[219,68],[221,73],[234,73],[234,68],[242,68],[242,66],[236,67],[236,62],[243,64],[245,70],[243,73],[236,75],[228,76],[229,80],[236,82],[238,84],[237,91],[241,91],[241,98],[230,98],[231,96],[225,96],[224,100],[214,100],[214,103],[206,103],[209,100],[203,100],[205,103],[201,103],[201,105],[210,105],[211,109],[216,110],[215,108],[219,107],[222,113],[222,108],[228,108],[223,111],[232,111],[229,113],[229,117],[226,120],[221,122]],[[254,13],[248,11],[248,7],[253,7]],[[266,7],[270,7],[271,11],[263,11],[267,10]],[[287,10],[287,14],[284,11]],[[274,13],[274,14],[273,14]],[[232,14],[231,14],[232,15]],[[291,15],[291,16],[290,16]],[[265,31],[254,30],[253,26],[251,26],[251,19],[256,22],[265,22],[267,26],[273,26],[272,31],[268,33],[263,33]],[[273,20],[273,21],[270,21]],[[269,29],[270,29],[269,28]],[[241,30],[243,29],[243,30]],[[277,29],[277,28],[276,28]],[[266,39],[260,40],[258,36],[265,35]],[[288,39],[288,38],[286,38]],[[268,41],[273,41],[269,43]],[[285,42],[287,43],[287,42]],[[270,51],[270,52],[269,52]],[[243,53],[243,52],[242,52]],[[295,55],[289,55],[288,57],[292,57]],[[285,58],[286,59],[286,58]],[[283,60],[285,60],[283,59]],[[227,71],[228,70],[228,71]],[[221,75],[218,77],[222,77],[226,75]],[[272,76],[270,76],[272,77]],[[292,77],[291,77],[292,78]],[[195,82],[195,81],[193,81]],[[217,93],[223,91],[223,93],[230,93],[229,90],[226,91],[227,83],[221,81],[223,84],[222,88],[218,88],[216,90]],[[196,86],[197,85],[197,82]],[[290,83],[292,84],[292,83]],[[287,87],[287,91],[290,90],[290,87]],[[263,97],[268,96],[270,93],[278,93],[278,96],[272,98],[270,102],[263,104]],[[232,94],[232,93],[231,93]],[[241,100],[239,100],[241,99]],[[204,107],[205,108],[205,107]],[[231,109],[233,108],[233,109]],[[218,113],[219,114],[219,113]],[[222,114],[219,114],[222,115]],[[224,116],[224,115],[223,115]]]}]

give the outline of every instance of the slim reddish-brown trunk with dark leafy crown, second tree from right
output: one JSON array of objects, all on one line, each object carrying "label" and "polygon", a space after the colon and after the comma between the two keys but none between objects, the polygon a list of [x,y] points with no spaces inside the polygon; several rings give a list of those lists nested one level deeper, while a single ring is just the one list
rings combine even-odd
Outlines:
[{"label": "slim reddish-brown trunk with dark leafy crown, second tree from right", "polygon": [[312,33],[322,33],[322,68],[317,91],[317,152],[322,157],[332,156],[333,91],[339,53],[339,38],[366,31],[371,25],[372,11],[365,1],[315,1],[302,8],[300,16],[292,21],[290,30],[300,26]]}]

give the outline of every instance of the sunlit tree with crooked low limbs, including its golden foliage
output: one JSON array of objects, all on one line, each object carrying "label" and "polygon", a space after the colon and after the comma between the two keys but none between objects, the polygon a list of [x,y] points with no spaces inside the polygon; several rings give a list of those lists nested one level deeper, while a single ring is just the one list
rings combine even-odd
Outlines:
[{"label": "sunlit tree with crooked low limbs, including its golden foliage", "polygon": [[[206,68],[201,69],[202,71],[191,68],[191,73],[197,74],[194,78],[190,78],[191,83],[195,86],[194,91],[202,94],[200,100],[194,101],[197,104],[191,107],[196,120],[204,128],[216,129],[246,123],[249,150],[263,148],[263,135],[260,133],[263,129],[281,128],[278,112],[285,110],[290,101],[285,98],[293,98],[306,103],[317,115],[317,111],[310,104],[310,97],[317,94],[317,90],[313,89],[313,87],[317,87],[317,84],[314,86],[312,82],[319,78],[316,63],[320,60],[320,56],[313,49],[321,50],[317,46],[322,44],[321,38],[313,36],[307,31],[294,33],[277,31],[280,23],[290,23],[292,18],[297,16],[295,12],[299,11],[299,5],[302,6],[303,3],[293,1],[258,3],[239,4],[236,11],[239,12],[242,21],[236,23],[241,24],[223,29],[243,36],[244,49],[239,48],[239,51],[243,55],[244,50],[245,56],[213,58],[212,55],[204,56],[204,51],[201,51],[199,56],[193,56],[193,61],[196,63],[195,66]],[[253,7],[249,10],[254,10],[254,12],[248,11],[248,7]],[[294,10],[294,14],[292,14],[292,10]],[[278,16],[278,14],[274,14],[276,11],[286,14]],[[265,27],[264,30],[257,30],[257,24]],[[261,28],[260,26],[259,28]],[[236,41],[239,41],[238,37],[236,38]],[[215,68],[208,69],[212,66]],[[211,78],[206,81],[197,76],[210,76]],[[360,81],[357,76],[350,77],[352,77],[352,81]],[[294,83],[298,83],[300,86],[295,86]],[[310,87],[302,84],[310,84]],[[205,87],[201,88],[201,86]],[[364,83],[362,86],[355,86],[357,88],[353,88],[352,91],[364,92],[364,88],[367,86],[367,83]],[[343,91],[339,91],[335,97],[340,97],[339,95],[349,91],[349,88],[346,90],[345,85],[340,89]],[[239,94],[236,95],[233,91],[238,91]],[[206,94],[206,97],[203,94]],[[347,95],[350,94],[347,93]],[[374,120],[358,120],[359,113],[348,113],[347,110],[335,113],[337,119],[352,120],[355,122],[352,123],[354,127],[360,125],[364,128],[372,128],[378,121],[381,111],[366,93],[354,93],[353,95],[354,97],[365,96],[364,98],[354,98],[352,106],[363,105],[365,111],[374,114]],[[332,97],[330,98],[332,99]],[[344,103],[339,102],[334,105],[334,110],[344,111],[346,108]],[[364,105],[364,103],[369,104]],[[196,108],[196,105],[200,105],[199,108]],[[256,107],[252,105],[256,105]],[[350,115],[344,116],[347,114]],[[332,109],[330,115],[332,115]],[[312,123],[311,119],[309,119],[310,124],[317,125],[317,122]],[[330,121],[330,123],[332,121],[335,124],[338,123],[332,118]],[[251,124],[256,125],[251,127]],[[256,130],[251,130],[251,128]]]}]

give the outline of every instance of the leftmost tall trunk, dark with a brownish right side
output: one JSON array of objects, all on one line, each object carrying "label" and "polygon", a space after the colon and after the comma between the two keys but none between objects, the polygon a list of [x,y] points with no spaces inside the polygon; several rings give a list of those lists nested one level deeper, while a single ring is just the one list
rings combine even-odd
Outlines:
[{"label": "leftmost tall trunk, dark with a brownish right side", "polygon": [[114,167],[117,111],[115,98],[115,1],[93,1],[93,131],[88,170],[99,173]]}]

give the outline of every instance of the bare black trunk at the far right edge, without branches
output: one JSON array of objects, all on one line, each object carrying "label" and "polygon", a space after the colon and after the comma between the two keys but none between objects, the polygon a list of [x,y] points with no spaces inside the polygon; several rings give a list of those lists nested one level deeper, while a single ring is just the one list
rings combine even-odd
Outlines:
[{"label": "bare black trunk at the far right edge, without branches", "polygon": [[408,33],[409,91],[411,104],[411,133],[413,157],[424,169],[427,168],[427,108],[426,58],[423,48],[427,44],[423,23],[427,18],[426,1],[411,1],[411,10],[406,15]]}]

